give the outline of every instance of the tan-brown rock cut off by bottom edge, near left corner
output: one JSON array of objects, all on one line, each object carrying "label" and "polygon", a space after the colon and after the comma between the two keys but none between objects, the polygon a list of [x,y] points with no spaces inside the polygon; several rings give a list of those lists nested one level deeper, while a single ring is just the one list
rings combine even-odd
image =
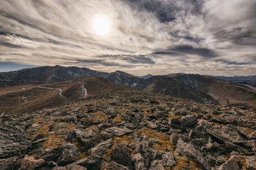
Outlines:
[{"label": "tan-brown rock cut off by bottom edge, near left corner", "polygon": [[21,161],[21,166],[19,170],[34,170],[44,165],[44,163],[44,159],[36,160],[34,157],[29,157],[29,155],[26,155]]}]

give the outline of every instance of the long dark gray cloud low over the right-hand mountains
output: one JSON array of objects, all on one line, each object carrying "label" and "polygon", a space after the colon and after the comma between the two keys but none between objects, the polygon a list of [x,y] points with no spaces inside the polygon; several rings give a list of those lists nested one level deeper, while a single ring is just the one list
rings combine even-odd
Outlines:
[{"label": "long dark gray cloud low over the right-hand mountains", "polygon": [[179,45],[169,48],[164,51],[157,51],[154,54],[163,55],[184,55],[184,54],[195,54],[205,58],[217,57],[217,53],[209,48],[196,48],[191,45]]}]

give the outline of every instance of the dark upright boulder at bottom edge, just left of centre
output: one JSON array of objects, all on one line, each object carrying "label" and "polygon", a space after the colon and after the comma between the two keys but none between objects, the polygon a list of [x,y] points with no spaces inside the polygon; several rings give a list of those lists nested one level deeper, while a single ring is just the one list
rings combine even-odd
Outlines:
[{"label": "dark upright boulder at bottom edge, just left of centre", "polygon": [[118,164],[132,167],[131,155],[128,148],[124,145],[117,144],[110,153],[112,160]]}]

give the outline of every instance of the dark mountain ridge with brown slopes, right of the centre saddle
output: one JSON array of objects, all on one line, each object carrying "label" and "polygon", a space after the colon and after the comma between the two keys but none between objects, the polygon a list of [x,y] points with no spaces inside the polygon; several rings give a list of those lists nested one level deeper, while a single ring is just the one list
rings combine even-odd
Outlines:
[{"label": "dark mountain ridge with brown slopes, right of the centre saddle", "polygon": [[107,79],[157,94],[191,99],[200,103],[256,106],[256,92],[243,85],[200,74],[175,73],[144,79],[124,72],[110,73]]}]

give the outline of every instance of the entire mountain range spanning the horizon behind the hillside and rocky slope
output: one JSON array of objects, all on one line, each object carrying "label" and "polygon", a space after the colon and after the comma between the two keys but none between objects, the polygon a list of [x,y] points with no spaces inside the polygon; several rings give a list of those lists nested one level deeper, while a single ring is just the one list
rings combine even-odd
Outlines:
[{"label": "entire mountain range spanning the horizon behind the hillside and rocky slope", "polygon": [[76,80],[87,76],[106,78],[115,85],[127,86],[139,90],[146,90],[156,94],[170,95],[184,99],[191,99],[205,104],[233,104],[256,106],[256,91],[231,82],[232,80],[252,81],[250,77],[213,77],[200,74],[175,73],[153,76],[134,76],[123,71],[105,73],[94,71],[86,67],[44,66],[19,71],[0,73],[0,87],[25,84],[49,84],[61,81]]}]

